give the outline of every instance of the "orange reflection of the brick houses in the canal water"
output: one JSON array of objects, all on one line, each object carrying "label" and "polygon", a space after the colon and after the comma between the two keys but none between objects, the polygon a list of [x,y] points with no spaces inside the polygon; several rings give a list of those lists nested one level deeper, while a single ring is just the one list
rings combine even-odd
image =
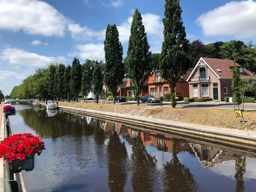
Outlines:
[{"label": "orange reflection of the brick houses in the canal water", "polygon": [[[159,151],[172,151],[173,137],[168,137],[162,134],[157,134],[153,131],[138,131],[128,128],[131,138],[136,138],[139,134],[144,145],[153,145]],[[178,140],[177,152],[187,151],[190,148],[189,142],[186,140]]]}]

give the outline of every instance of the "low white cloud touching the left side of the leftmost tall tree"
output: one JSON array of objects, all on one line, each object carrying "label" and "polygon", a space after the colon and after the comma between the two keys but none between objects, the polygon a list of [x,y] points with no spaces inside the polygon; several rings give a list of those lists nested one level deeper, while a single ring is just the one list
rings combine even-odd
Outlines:
[{"label": "low white cloud touching the left side of the leftmost tall tree", "polygon": [[82,59],[105,60],[103,44],[80,44],[76,45],[78,51],[69,53],[68,56],[79,56]]}]

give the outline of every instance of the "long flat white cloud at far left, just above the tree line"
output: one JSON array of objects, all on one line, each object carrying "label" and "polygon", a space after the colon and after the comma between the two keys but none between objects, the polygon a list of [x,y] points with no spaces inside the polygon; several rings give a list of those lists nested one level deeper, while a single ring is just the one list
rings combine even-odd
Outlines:
[{"label": "long flat white cloud at far left, just above the tree line", "polygon": [[21,64],[32,67],[44,67],[50,63],[65,62],[64,57],[47,57],[44,55],[38,55],[36,53],[30,53],[22,49],[5,49],[0,57],[3,60],[9,60],[10,64]]}]

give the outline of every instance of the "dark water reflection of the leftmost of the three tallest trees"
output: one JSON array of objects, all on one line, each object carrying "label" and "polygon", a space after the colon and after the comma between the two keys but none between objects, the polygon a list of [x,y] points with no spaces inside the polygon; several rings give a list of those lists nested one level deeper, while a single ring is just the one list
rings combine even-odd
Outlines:
[{"label": "dark water reflection of the leftmost of the three tallest trees", "polygon": [[108,187],[112,192],[124,191],[124,186],[127,180],[128,154],[125,147],[125,143],[121,143],[121,140],[116,133],[110,135],[108,147]]}]

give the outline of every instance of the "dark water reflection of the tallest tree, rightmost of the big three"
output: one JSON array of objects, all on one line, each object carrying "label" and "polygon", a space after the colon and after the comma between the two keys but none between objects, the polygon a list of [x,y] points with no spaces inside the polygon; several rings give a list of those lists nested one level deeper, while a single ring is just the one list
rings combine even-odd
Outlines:
[{"label": "dark water reflection of the tallest tree, rightmost of the big three", "polygon": [[198,190],[198,183],[177,157],[177,139],[173,138],[172,143],[172,160],[167,162],[163,168],[163,186],[166,191],[195,192]]}]

